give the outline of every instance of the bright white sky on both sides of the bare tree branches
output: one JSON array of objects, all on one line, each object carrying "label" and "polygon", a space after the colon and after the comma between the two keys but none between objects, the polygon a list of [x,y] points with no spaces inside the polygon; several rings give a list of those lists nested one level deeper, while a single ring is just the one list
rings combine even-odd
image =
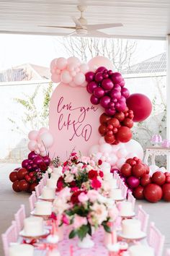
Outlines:
[{"label": "bright white sky on both sides of the bare tree branches", "polygon": [[[49,67],[56,57],[67,57],[56,37],[45,35],[0,34],[0,70],[24,63]],[[166,41],[138,40],[135,63],[166,51]],[[134,63],[134,64],[135,64]]]}]

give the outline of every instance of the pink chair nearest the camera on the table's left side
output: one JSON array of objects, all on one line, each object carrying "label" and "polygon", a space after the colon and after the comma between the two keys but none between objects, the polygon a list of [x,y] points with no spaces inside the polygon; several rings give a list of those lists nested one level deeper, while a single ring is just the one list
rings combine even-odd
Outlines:
[{"label": "pink chair nearest the camera on the table's left side", "polygon": [[4,255],[9,256],[9,246],[12,243],[17,242],[17,223],[12,221],[12,226],[6,230],[4,234],[1,234],[2,244],[4,248]]}]

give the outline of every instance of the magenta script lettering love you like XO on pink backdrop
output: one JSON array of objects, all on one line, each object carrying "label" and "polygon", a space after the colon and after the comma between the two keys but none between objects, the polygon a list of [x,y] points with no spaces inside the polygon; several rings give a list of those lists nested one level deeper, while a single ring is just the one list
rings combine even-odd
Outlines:
[{"label": "magenta script lettering love you like XO on pink backdrop", "polygon": [[[91,137],[92,127],[91,124],[86,120],[86,114],[88,111],[97,111],[97,107],[73,107],[73,103],[64,103],[64,97],[61,97],[58,101],[57,105],[57,113],[60,115],[58,119],[58,129],[60,131],[66,131],[71,129],[73,134],[69,138],[69,140],[73,140],[76,137],[83,137],[85,141],[88,141]],[[67,111],[63,114],[63,111]],[[75,111],[79,113],[77,119],[75,119]]]}]

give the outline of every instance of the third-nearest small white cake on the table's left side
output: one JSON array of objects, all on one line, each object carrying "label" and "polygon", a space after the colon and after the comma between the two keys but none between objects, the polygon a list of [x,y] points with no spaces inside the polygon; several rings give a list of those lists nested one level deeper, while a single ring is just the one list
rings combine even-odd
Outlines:
[{"label": "third-nearest small white cake on the table's left side", "polygon": [[48,216],[52,213],[52,202],[37,201],[35,204],[35,214]]}]

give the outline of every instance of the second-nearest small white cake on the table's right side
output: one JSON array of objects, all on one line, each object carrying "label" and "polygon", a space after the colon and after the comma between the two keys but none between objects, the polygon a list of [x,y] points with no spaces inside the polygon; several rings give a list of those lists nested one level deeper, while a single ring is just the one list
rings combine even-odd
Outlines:
[{"label": "second-nearest small white cake on the table's right side", "polygon": [[141,236],[141,223],[136,219],[128,219],[122,221],[122,234],[129,238]]}]

